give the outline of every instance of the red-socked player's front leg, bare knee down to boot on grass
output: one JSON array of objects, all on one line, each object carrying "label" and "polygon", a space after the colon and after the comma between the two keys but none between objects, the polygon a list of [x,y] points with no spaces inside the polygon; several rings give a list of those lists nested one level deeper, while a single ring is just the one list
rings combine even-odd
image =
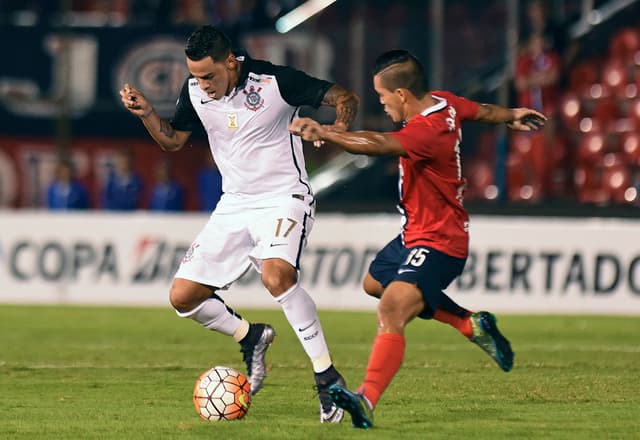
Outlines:
[{"label": "red-socked player's front leg, bare knee down to boot on grass", "polygon": [[423,308],[422,294],[415,284],[395,281],[385,289],[378,304],[378,335],[364,381],[356,392],[339,385],[329,389],[332,400],[351,415],[354,427],[373,426],[373,409],[404,359],[404,329]]}]

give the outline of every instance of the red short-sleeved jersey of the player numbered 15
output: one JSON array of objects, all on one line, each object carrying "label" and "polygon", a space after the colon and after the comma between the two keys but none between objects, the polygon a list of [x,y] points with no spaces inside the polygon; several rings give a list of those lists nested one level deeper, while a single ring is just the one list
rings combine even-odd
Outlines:
[{"label": "red short-sleeved jersey of the player numbered 15", "polygon": [[434,91],[435,105],[390,133],[404,147],[400,157],[400,204],[406,246],[424,245],[452,257],[469,253],[469,215],[462,206],[461,121],[475,119],[478,103]]}]

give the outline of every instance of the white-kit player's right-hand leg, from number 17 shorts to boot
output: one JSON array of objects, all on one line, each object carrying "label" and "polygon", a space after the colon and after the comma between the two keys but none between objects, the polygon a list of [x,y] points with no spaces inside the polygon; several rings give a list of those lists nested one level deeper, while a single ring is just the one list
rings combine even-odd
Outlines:
[{"label": "white-kit player's right-hand leg, from number 17 shorts to boot", "polygon": [[343,411],[328,395],[330,385],[344,384],[333,365],[316,304],[298,283],[299,261],[311,228],[313,210],[297,198],[283,199],[277,209],[257,222],[254,239],[260,243],[251,256],[262,282],[282,310],[313,365],[320,400],[320,421],[340,422]]}]

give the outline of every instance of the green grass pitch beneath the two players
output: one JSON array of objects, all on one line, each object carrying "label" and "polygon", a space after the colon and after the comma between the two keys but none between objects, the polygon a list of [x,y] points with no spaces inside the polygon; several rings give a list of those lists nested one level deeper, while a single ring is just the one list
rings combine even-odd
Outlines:
[{"label": "green grass pitch beneath the two players", "polygon": [[[169,308],[0,306],[1,439],[633,439],[640,428],[640,318],[498,315],[503,373],[443,324],[414,321],[405,361],[369,431],[321,425],[313,376],[279,310],[245,311],[278,336],[248,415],[205,422],[191,401],[214,365],[244,371],[232,339]],[[356,386],[375,314],[320,312]]]}]

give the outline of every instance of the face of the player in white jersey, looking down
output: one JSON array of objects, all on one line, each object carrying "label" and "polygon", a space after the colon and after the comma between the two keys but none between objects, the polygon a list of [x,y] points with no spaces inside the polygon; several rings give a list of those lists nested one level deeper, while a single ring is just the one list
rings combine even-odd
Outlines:
[{"label": "face of the player in white jersey, looking down", "polygon": [[211,57],[194,61],[187,58],[189,72],[198,80],[198,85],[212,99],[222,99],[235,87],[235,57],[229,55],[224,61],[214,62]]}]

